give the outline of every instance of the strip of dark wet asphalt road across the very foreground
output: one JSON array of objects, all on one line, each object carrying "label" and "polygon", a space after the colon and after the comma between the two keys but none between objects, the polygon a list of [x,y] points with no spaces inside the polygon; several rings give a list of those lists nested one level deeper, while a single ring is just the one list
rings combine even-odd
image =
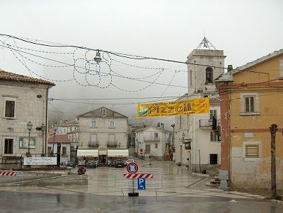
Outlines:
[{"label": "strip of dark wet asphalt road across the very foreground", "polygon": [[0,212],[282,212],[283,205],[225,197],[120,197],[0,192]]}]

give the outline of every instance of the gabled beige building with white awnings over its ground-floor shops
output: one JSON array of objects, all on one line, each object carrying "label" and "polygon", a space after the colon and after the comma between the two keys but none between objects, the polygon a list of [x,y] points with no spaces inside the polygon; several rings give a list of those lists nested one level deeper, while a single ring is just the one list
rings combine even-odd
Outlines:
[{"label": "gabled beige building with white awnings over its ground-floor shops", "polygon": [[[93,157],[98,157],[100,163],[106,163],[111,157],[129,156],[127,116],[100,107],[78,118],[79,150],[88,153],[93,150]],[[83,156],[79,150],[78,153]]]}]

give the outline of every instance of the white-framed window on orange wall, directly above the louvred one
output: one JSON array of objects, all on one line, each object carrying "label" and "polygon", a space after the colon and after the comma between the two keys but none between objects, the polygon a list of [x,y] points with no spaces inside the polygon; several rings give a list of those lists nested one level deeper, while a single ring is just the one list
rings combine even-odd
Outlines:
[{"label": "white-framed window on orange wall, directly above the louvred one", "polygon": [[259,115],[260,102],[258,92],[241,93],[241,115]]}]

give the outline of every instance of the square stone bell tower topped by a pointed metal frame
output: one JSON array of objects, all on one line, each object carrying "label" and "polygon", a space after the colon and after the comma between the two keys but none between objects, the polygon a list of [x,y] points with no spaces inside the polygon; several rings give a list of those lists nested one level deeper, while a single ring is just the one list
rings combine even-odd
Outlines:
[{"label": "square stone bell tower topped by a pointed metal frame", "polygon": [[187,56],[188,95],[216,92],[214,79],[224,73],[223,50],[217,50],[204,36],[197,49]]}]

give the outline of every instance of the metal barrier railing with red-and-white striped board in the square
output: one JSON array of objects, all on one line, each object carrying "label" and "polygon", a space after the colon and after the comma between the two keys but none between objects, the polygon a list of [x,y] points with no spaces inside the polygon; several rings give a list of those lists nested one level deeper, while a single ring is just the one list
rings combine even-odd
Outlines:
[{"label": "metal barrier railing with red-and-white striped board in the square", "polygon": [[115,188],[122,190],[124,195],[124,190],[135,190],[138,189],[138,179],[146,178],[145,189],[155,190],[157,196],[157,189],[163,187],[163,178],[160,173],[135,173],[135,174],[124,174],[124,177],[117,177],[115,175]]}]

